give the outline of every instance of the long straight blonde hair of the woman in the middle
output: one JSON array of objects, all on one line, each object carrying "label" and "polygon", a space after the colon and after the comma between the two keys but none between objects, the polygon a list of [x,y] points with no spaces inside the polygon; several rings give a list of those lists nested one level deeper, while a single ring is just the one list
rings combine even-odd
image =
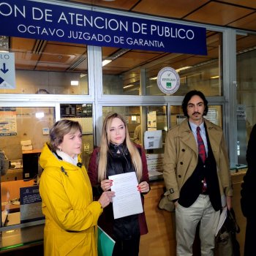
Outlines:
[{"label": "long straight blonde hair of the woman in the middle", "polygon": [[138,148],[136,148],[135,144],[132,143],[131,139],[129,138],[129,131],[127,128],[127,123],[123,116],[119,115],[118,113],[109,113],[108,116],[105,117],[102,127],[102,139],[100,143],[100,150],[99,150],[99,165],[98,165],[98,181],[102,181],[106,178],[107,173],[107,162],[108,162],[108,151],[110,145],[110,126],[112,124],[113,118],[119,118],[125,127],[125,139],[124,142],[127,146],[129,154],[132,159],[132,164],[135,167],[136,176],[138,181],[140,181],[142,177],[142,161],[140,157],[140,153]]}]

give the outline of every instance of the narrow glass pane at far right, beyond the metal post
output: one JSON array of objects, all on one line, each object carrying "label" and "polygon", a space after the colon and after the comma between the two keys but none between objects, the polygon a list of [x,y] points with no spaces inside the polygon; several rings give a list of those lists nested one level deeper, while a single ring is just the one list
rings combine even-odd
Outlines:
[{"label": "narrow glass pane at far right, beyond the metal post", "polygon": [[247,143],[256,123],[256,36],[237,35],[236,39],[238,164],[246,165]]}]

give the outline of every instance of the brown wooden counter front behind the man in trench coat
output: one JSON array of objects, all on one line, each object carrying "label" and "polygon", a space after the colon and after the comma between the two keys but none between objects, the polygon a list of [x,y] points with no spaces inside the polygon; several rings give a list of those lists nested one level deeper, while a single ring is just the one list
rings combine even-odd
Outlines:
[{"label": "brown wooden counter front behind the man in trench coat", "polygon": [[[241,247],[241,256],[244,255],[244,236],[246,219],[241,213],[240,191],[246,170],[232,173],[233,181],[233,209],[240,233],[237,235]],[[148,234],[140,237],[140,256],[175,256],[176,233],[175,213],[159,210],[158,203],[164,192],[164,181],[151,181],[151,191],[145,196],[145,214],[148,224]]]}]

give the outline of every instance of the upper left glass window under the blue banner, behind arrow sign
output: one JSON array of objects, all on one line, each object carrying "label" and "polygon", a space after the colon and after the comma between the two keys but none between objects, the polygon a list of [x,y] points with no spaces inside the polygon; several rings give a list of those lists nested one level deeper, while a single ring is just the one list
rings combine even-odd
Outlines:
[{"label": "upper left glass window under the blue banner, behind arrow sign", "polygon": [[0,86],[0,93],[89,94],[85,45],[0,36],[3,38],[10,44],[10,53],[15,53],[16,83]]}]

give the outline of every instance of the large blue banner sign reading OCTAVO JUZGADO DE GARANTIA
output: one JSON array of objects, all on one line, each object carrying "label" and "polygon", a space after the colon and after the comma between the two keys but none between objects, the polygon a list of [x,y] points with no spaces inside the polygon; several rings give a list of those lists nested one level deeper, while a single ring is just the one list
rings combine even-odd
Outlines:
[{"label": "large blue banner sign reading OCTAVO JUZGADO DE GARANTIA", "polygon": [[1,1],[0,23],[0,34],[10,37],[207,54],[205,28],[94,12],[57,3]]}]

